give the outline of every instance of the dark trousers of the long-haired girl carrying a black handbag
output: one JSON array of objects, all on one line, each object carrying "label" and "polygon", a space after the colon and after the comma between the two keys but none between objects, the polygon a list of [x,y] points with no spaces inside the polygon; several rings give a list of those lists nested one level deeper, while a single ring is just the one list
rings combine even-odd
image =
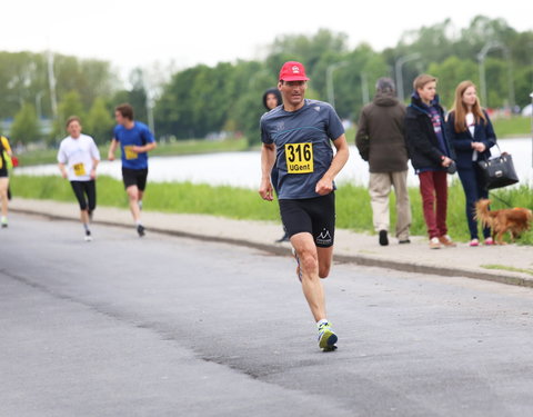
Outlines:
[{"label": "dark trousers of the long-haired girl carrying a black handbag", "polygon": [[[459,178],[463,185],[464,196],[466,199],[466,221],[469,222],[470,238],[477,239],[477,221],[475,216],[475,202],[481,198],[489,198],[489,191],[483,188],[481,172],[477,166],[472,163],[472,168],[457,169]],[[486,239],[491,236],[491,229],[483,228],[483,237]]]}]

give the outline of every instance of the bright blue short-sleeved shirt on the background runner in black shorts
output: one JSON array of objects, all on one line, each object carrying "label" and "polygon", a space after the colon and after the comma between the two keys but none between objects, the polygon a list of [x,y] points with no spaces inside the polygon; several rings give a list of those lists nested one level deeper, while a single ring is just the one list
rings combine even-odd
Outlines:
[{"label": "bright blue short-sleeved shirt on the background runner in black shorts", "polygon": [[122,125],[117,125],[113,130],[113,137],[120,142],[122,167],[129,169],[148,168],[148,152],[134,153],[129,150],[129,147],[142,147],[155,141],[147,125],[137,120],[131,129],[127,129]]}]

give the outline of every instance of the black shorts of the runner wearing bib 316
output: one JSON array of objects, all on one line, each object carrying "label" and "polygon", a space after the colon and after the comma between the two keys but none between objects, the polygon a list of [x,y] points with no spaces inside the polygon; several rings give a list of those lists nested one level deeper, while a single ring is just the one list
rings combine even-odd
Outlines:
[{"label": "black shorts of the runner wearing bib 316", "polygon": [[335,235],[335,195],[280,200],[283,226],[290,237],[301,232],[313,236],[320,248],[333,246]]}]

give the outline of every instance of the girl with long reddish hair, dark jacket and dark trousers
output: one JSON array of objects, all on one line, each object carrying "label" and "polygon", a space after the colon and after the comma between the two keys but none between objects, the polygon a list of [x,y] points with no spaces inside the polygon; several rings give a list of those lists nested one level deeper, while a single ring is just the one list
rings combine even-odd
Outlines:
[{"label": "girl with long reddish hair, dark jacket and dark trousers", "polygon": [[[472,81],[460,82],[455,101],[450,111],[447,126],[451,143],[457,156],[457,173],[466,197],[466,221],[470,229],[470,246],[479,246],[477,221],[474,219],[475,202],[489,198],[484,188],[477,160],[491,157],[490,148],[496,143],[496,135],[489,115],[481,108]],[[485,245],[494,245],[491,229],[483,228]]]}]

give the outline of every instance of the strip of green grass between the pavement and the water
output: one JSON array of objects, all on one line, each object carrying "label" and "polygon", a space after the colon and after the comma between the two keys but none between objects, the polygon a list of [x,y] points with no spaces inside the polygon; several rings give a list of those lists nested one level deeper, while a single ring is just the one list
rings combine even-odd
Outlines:
[{"label": "strip of green grass between the pavement and the water", "polygon": [[[58,177],[31,177],[13,175],[12,191],[16,197],[53,199],[74,202],[74,196],[67,180]],[[122,182],[110,177],[98,179],[98,203],[110,207],[128,207]],[[418,188],[409,190],[413,222],[411,235],[425,236],[425,222]],[[491,192],[492,195],[492,192]],[[533,208],[533,190],[526,186],[515,189],[501,189],[495,196],[512,207]],[[493,209],[506,206],[492,198]],[[449,234],[459,241],[467,241],[470,234],[464,215],[464,192],[459,180],[449,188],[447,226]],[[395,199],[391,193],[391,231],[395,224]],[[150,182],[144,197],[147,210],[182,214],[205,214],[233,219],[279,221],[278,203],[261,200],[258,192],[237,187],[213,187],[190,182]],[[341,185],[336,192],[336,226],[355,231],[373,232],[372,209],[365,187]],[[481,232],[480,232],[481,236]],[[507,240],[509,241],[509,240]],[[517,240],[522,245],[533,245],[533,231],[527,231]]]}]

